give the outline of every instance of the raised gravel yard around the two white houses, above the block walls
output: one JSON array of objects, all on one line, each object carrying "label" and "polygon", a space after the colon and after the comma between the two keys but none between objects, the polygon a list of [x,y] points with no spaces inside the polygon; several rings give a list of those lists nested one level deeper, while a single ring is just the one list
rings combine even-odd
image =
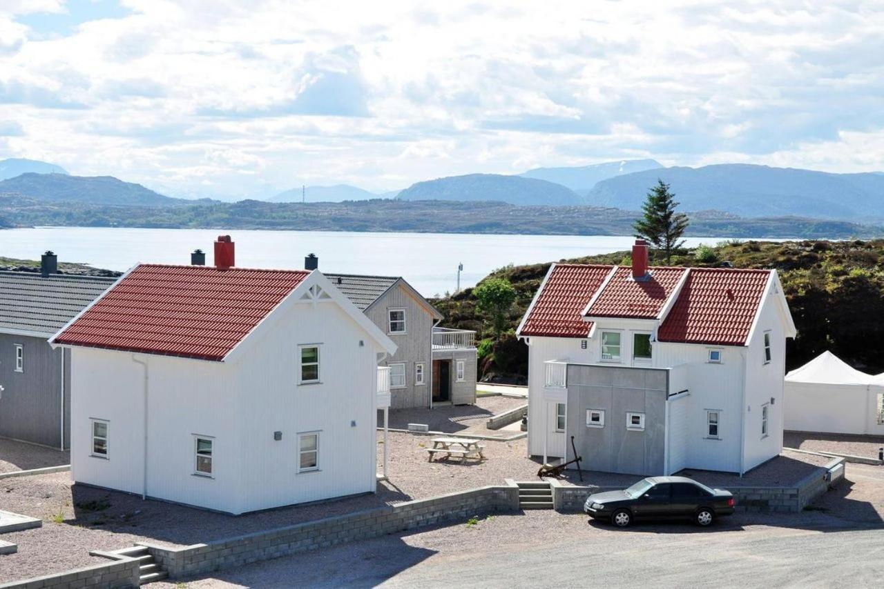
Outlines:
[{"label": "raised gravel yard around the two white houses, above the block walls", "polygon": [[[537,460],[526,457],[525,439],[484,442],[487,460],[456,459],[429,462],[426,449],[432,437],[389,434],[390,481],[378,485],[376,495],[360,495],[316,503],[227,516],[165,502],[142,502],[126,495],[92,487],[72,487],[69,472],[0,480],[0,508],[44,520],[42,528],[4,534],[19,544],[19,553],[2,557],[0,582],[34,577],[103,562],[88,550],[114,550],[134,541],[152,540],[172,546],[217,540],[248,532],[331,517],[395,502],[409,501],[453,491],[502,484],[504,479],[536,480]],[[383,433],[377,434],[378,464],[383,457]],[[697,480],[716,486],[779,484],[801,478],[819,457],[796,453],[783,456],[740,479],[733,475],[697,473]],[[826,459],[819,458],[823,462]],[[583,484],[629,486],[640,477],[583,472]],[[564,483],[580,484],[576,472]]]}]

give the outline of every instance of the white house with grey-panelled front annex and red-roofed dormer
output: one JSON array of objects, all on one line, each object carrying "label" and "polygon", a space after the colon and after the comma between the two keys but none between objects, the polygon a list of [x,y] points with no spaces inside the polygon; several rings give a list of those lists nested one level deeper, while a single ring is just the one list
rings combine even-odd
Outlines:
[{"label": "white house with grey-panelled front annex and red-roofed dormer", "polygon": [[553,264],[529,345],[529,454],[644,475],[743,473],[782,449],[786,338],[773,270]]}]

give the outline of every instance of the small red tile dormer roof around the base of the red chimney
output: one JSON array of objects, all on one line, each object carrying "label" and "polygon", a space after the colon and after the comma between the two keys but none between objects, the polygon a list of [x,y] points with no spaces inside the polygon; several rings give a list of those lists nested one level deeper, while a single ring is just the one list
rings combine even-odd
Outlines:
[{"label": "small red tile dormer roof around the base of the red chimney", "polygon": [[682,279],[685,268],[650,268],[648,280],[633,280],[632,268],[617,268],[593,301],[587,317],[655,319]]}]

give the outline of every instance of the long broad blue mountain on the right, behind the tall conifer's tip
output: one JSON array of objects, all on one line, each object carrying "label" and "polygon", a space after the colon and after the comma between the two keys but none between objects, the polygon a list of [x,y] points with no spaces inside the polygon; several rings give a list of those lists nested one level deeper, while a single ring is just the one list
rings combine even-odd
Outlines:
[{"label": "long broad blue mountain on the right, behind the tall conifer's tip", "polygon": [[884,217],[880,174],[830,174],[744,163],[662,168],[609,178],[590,191],[586,204],[636,210],[658,178],[672,186],[675,200],[686,211],[864,221]]}]

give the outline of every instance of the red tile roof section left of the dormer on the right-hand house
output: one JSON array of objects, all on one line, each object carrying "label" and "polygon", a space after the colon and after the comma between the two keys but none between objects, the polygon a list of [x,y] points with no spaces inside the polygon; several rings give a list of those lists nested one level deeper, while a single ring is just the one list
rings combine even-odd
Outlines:
[{"label": "red tile roof section left of the dormer on the right-hand house", "polygon": [[557,264],[522,325],[522,336],[586,337],[592,323],[582,313],[611,266]]}]

